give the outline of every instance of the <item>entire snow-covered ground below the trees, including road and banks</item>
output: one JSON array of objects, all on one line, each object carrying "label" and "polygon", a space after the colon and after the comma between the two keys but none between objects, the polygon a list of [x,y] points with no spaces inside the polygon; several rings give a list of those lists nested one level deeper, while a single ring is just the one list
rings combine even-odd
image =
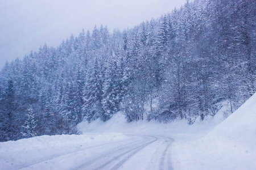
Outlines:
[{"label": "entire snow-covered ground below the trees, including road and banks", "polygon": [[226,120],[223,109],[191,126],[117,114],[80,124],[82,135],[0,142],[0,169],[255,169],[256,95]]}]

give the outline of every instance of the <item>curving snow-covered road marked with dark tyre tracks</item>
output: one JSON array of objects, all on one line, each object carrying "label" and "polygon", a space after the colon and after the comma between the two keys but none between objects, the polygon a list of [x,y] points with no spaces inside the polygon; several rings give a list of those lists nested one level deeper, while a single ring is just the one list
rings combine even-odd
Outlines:
[{"label": "curving snow-covered road marked with dark tyre tracks", "polygon": [[167,137],[133,135],[130,139],[84,148],[19,169],[172,169]]}]

